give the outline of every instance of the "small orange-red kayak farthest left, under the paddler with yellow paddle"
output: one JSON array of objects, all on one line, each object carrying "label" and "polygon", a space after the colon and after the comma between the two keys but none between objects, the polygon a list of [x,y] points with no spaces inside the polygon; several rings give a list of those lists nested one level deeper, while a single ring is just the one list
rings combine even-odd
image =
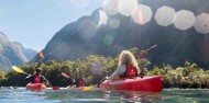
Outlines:
[{"label": "small orange-red kayak farthest left, under the paddler with yellow paddle", "polygon": [[43,83],[28,83],[26,89],[32,91],[42,91],[46,89],[46,85]]}]

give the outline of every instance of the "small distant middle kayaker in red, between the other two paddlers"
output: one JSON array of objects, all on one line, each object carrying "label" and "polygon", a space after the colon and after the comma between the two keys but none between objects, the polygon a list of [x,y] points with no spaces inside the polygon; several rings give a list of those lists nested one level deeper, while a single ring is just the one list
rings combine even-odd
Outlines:
[{"label": "small distant middle kayaker in red, between the other two paddlers", "polygon": [[86,87],[87,81],[84,79],[81,75],[78,75],[75,81],[76,88]]}]

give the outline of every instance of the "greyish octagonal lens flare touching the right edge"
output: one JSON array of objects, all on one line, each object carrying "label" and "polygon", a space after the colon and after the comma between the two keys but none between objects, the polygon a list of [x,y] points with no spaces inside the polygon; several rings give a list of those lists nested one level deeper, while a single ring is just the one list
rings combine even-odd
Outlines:
[{"label": "greyish octagonal lens flare touching the right edge", "polygon": [[201,13],[196,18],[194,25],[198,33],[208,34],[209,33],[209,14]]}]

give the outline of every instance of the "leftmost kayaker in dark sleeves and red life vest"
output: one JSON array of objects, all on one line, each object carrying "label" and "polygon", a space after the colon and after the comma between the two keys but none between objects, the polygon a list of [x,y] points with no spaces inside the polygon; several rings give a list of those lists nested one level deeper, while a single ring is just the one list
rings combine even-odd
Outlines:
[{"label": "leftmost kayaker in dark sleeves and red life vest", "polygon": [[42,76],[42,68],[37,68],[35,75],[29,75],[25,80],[30,83],[45,83],[46,85],[50,85],[48,80]]}]

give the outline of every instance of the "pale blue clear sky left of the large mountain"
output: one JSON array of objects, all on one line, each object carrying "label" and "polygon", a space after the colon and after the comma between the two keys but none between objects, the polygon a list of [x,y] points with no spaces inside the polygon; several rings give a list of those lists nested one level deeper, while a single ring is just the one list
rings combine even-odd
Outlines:
[{"label": "pale blue clear sky left of the large mountain", "polygon": [[66,24],[101,5],[102,0],[0,0],[0,31],[38,52]]}]

